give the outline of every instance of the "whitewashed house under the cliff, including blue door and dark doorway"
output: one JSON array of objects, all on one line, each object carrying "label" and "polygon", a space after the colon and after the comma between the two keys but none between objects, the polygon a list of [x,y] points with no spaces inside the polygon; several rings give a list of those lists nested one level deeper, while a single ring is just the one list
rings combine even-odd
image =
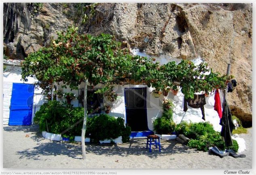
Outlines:
[{"label": "whitewashed house under the cliff, including blue door and dark doorway", "polygon": [[[138,51],[133,50],[133,53],[148,57],[148,55],[139,53]],[[156,59],[161,64],[173,60],[177,63],[179,62],[178,59],[168,58],[168,56],[165,55]],[[201,59],[194,60],[195,64],[201,61]],[[39,109],[40,105],[46,101],[41,94],[42,90],[34,88],[34,83],[37,81],[36,78],[29,77],[28,82],[21,81],[21,62],[22,61],[19,60],[4,60],[4,65],[6,65],[4,70],[4,124],[30,125],[33,122],[35,112]],[[61,82],[55,85],[57,90],[62,93],[72,92],[76,95],[75,97],[78,97],[71,101],[71,104],[73,104],[74,107],[83,106],[83,83],[78,86],[78,90],[71,90],[69,88],[62,89]],[[19,88],[21,86],[24,88]],[[18,87],[19,89],[15,89],[15,87]],[[88,98],[92,98],[91,104],[89,105],[93,106],[92,108],[96,108],[98,106],[102,107],[103,103],[109,103],[112,107],[109,115],[123,118],[125,123],[131,126],[132,131],[153,131],[154,119],[162,115],[162,101],[164,98],[171,99],[175,105],[173,111],[173,119],[175,122],[180,123],[182,120],[191,122],[204,121],[202,120],[200,108],[194,109],[188,106],[187,112],[183,111],[184,95],[180,90],[178,95],[173,95],[169,92],[167,97],[164,97],[163,95],[154,97],[152,87],[148,87],[146,84],[116,85],[114,86],[114,90],[118,94],[118,99],[110,103],[106,97],[99,98],[98,95],[93,95],[94,91],[102,87],[101,84],[98,84],[93,89],[88,89]],[[220,96],[223,96],[221,92]],[[65,98],[59,99],[57,97],[57,100],[65,100]],[[19,101],[19,103],[16,103],[17,101]],[[206,97],[206,105],[204,105],[205,119],[214,125],[216,131],[220,131],[220,118],[213,106],[214,94]],[[90,116],[102,113],[105,112],[103,110],[98,110]],[[140,134],[141,135],[137,136],[143,136],[143,132],[140,132]]]}]

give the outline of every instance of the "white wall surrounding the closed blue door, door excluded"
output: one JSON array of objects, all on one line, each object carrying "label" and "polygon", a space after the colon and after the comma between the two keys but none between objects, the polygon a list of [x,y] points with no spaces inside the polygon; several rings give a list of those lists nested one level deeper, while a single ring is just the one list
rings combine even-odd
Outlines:
[{"label": "white wall surrounding the closed blue door, door excluded", "polygon": [[[34,84],[38,80],[36,78],[28,77],[28,82],[21,80],[21,66],[6,65],[6,70],[3,73],[3,124],[8,124],[10,115],[11,95],[13,89],[13,83],[26,83]],[[32,121],[36,111],[40,109],[45,101],[41,94],[42,89],[35,88],[34,90],[34,101],[32,111]]]}]

